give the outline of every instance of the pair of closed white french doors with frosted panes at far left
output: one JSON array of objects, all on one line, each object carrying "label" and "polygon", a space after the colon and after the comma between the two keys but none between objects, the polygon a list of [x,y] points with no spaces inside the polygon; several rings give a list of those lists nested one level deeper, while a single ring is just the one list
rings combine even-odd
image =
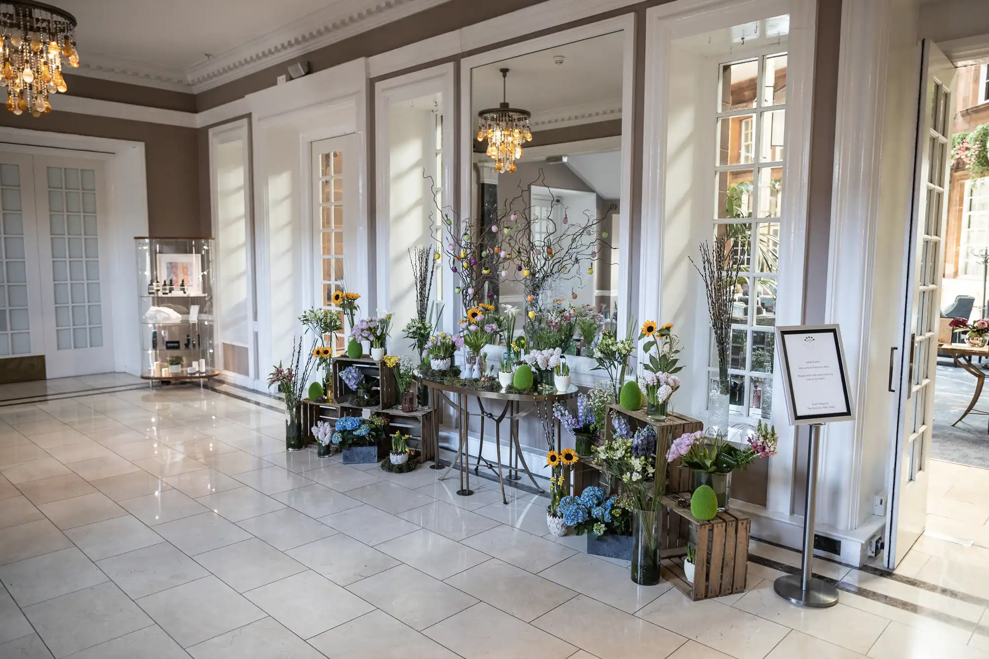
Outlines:
[{"label": "pair of closed white french doors with frosted panes at far left", "polygon": [[114,370],[104,190],[101,161],[0,152],[0,356],[48,378]]}]

